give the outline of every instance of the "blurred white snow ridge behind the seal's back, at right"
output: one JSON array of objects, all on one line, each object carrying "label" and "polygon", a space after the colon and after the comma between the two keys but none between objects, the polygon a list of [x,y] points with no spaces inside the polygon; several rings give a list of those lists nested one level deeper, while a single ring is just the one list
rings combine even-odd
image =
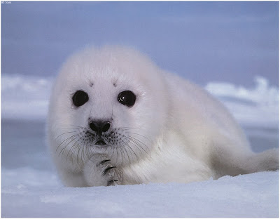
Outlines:
[{"label": "blurred white snow ridge behind the seal's back, at right", "polygon": [[255,77],[253,88],[209,82],[205,89],[220,99],[244,126],[279,126],[279,88],[269,86],[264,77]]}]

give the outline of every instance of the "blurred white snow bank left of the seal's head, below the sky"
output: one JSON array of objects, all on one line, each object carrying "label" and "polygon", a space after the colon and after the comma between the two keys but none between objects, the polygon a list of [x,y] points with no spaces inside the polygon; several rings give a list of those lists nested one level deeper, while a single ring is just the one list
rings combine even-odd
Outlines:
[{"label": "blurred white snow bank left of the seal's head, below the sky", "polygon": [[1,117],[45,119],[52,83],[52,78],[2,74]]}]

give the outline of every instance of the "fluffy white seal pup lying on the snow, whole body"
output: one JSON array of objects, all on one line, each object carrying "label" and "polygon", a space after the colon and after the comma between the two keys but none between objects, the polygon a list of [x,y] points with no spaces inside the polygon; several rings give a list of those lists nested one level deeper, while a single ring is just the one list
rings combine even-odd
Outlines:
[{"label": "fluffy white seal pup lying on the snow, whole body", "polygon": [[279,168],[251,151],[228,110],[131,48],[69,58],[50,98],[48,142],[70,187],[188,183]]}]

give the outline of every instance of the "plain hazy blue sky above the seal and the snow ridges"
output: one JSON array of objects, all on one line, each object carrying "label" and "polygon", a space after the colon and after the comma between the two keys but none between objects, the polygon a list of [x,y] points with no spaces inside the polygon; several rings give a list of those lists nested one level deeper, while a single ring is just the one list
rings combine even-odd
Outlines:
[{"label": "plain hazy blue sky above the seal and the snow ridges", "polygon": [[2,74],[54,76],[85,45],[123,44],[197,84],[279,84],[278,1],[12,2],[1,34]]}]

